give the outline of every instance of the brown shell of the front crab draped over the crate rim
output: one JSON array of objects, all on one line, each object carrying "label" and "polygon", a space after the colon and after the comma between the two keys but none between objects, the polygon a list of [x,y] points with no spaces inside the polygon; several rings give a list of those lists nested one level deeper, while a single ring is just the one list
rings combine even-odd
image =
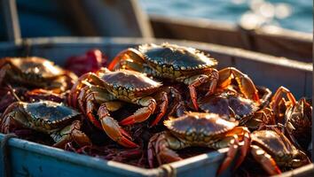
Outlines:
[{"label": "brown shell of the front crab draped over the crate rim", "polygon": [[203,112],[187,112],[177,119],[164,121],[173,135],[193,144],[215,142],[238,124],[238,121],[222,119],[218,114]]}]

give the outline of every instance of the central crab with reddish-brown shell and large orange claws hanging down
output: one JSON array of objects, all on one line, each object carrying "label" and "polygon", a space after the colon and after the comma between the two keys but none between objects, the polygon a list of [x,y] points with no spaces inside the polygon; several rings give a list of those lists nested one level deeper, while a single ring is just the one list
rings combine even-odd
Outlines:
[{"label": "central crab with reddish-brown shell and large orange claws hanging down", "polygon": [[[120,125],[143,122],[154,112],[158,112],[158,115],[153,125],[158,123],[169,104],[169,93],[167,89],[161,89],[161,86],[160,82],[153,81],[144,73],[130,70],[111,72],[101,68],[97,73],[85,73],[78,79],[68,96],[68,103],[79,107],[94,126],[103,129],[115,142],[124,147],[135,148],[137,144],[131,141],[130,135]],[[172,92],[171,90],[173,89],[169,89],[169,92]],[[155,110],[156,101],[160,103],[160,109]],[[109,112],[119,110],[123,102],[143,107],[128,118],[122,119],[119,125]],[[98,111],[97,118],[94,111]]]}]

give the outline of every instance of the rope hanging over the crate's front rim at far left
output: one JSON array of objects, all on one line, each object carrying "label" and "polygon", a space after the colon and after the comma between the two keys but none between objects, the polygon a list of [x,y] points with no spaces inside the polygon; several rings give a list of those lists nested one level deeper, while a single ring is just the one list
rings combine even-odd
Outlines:
[{"label": "rope hanging over the crate's front rim at far left", "polygon": [[12,166],[10,159],[10,149],[9,149],[9,140],[11,138],[17,137],[15,134],[4,135],[4,139],[1,142],[1,151],[2,151],[2,164],[4,166],[4,177],[12,176]]}]

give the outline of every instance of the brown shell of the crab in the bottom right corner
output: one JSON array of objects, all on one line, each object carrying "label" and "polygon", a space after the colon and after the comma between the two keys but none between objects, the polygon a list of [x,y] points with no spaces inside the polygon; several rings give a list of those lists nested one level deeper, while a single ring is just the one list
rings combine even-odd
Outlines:
[{"label": "brown shell of the crab in the bottom right corner", "polygon": [[294,145],[285,135],[279,135],[273,130],[258,130],[251,134],[252,142],[258,144],[274,158],[293,157],[297,153]]}]

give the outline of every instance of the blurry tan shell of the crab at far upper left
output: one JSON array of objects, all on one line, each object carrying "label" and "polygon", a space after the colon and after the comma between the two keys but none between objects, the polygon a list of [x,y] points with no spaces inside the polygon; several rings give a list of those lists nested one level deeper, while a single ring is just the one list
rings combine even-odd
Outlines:
[{"label": "blurry tan shell of the crab at far upper left", "polygon": [[20,73],[32,74],[38,78],[54,78],[64,73],[64,70],[58,65],[45,58],[4,58],[10,62]]}]

